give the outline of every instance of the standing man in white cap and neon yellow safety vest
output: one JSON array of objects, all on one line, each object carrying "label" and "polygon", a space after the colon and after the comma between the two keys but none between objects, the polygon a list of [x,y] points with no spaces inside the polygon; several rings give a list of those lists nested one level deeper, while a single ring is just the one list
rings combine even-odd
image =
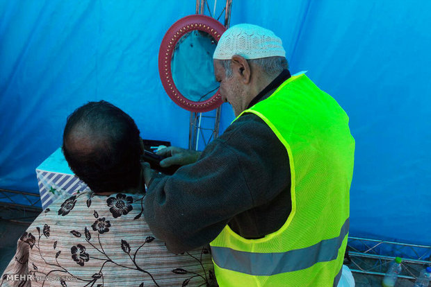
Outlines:
[{"label": "standing man in white cap and neon yellow safety vest", "polygon": [[349,230],[355,141],[334,98],[291,76],[282,41],[229,28],[214,55],[236,119],[202,153],[170,147],[145,168],[144,214],[172,252],[211,243],[220,286],[337,286]]}]

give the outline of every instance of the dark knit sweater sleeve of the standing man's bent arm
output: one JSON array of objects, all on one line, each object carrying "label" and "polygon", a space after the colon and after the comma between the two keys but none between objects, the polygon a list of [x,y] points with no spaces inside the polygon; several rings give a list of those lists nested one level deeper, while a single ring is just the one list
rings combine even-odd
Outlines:
[{"label": "dark knit sweater sleeve of the standing man's bent arm", "polygon": [[[265,205],[286,187],[275,134],[254,114],[232,123],[195,164],[155,177],[144,199],[145,220],[174,253],[208,244],[231,218]],[[281,159],[280,159],[281,158]],[[275,184],[274,186],[274,179]],[[289,181],[290,182],[290,181]]]}]

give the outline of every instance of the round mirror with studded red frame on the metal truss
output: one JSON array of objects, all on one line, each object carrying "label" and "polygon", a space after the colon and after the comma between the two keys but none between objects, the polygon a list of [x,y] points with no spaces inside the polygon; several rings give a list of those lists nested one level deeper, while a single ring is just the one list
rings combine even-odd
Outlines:
[{"label": "round mirror with studded red frame on the metal truss", "polygon": [[225,27],[219,21],[190,15],[170,27],[158,53],[158,71],[172,101],[190,112],[222,104],[214,78],[213,53]]}]

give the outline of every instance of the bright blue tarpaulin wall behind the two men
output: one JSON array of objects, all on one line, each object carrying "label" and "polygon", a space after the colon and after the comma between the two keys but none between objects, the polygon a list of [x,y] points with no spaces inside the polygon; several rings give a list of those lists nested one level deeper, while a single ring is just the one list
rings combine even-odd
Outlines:
[{"label": "bright blue tarpaulin wall behind the two men", "polygon": [[[273,30],[292,73],[308,70],[350,116],[350,235],[431,243],[430,11],[431,1],[234,0],[231,25]],[[0,0],[0,188],[38,193],[35,168],[88,101],[187,147],[190,114],[165,94],[157,55],[193,13],[195,1]],[[222,105],[220,130],[232,119]]]}]

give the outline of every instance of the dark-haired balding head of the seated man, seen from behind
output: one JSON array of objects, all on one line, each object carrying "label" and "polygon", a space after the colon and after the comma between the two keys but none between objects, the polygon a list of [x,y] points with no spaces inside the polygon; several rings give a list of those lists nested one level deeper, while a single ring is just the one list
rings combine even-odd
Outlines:
[{"label": "dark-haired balding head of the seated man, seen from behind", "polygon": [[90,102],[67,118],[63,153],[72,171],[96,193],[139,185],[143,153],[139,130],[111,103]]}]

